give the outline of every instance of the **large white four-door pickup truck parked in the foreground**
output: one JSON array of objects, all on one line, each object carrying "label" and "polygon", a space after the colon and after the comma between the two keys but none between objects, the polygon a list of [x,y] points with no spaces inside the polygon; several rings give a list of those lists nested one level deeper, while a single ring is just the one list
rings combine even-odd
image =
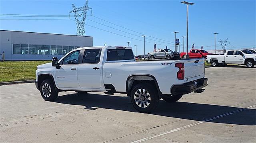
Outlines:
[{"label": "large white four-door pickup truck parked in the foreground", "polygon": [[204,59],[135,61],[131,47],[78,48],[36,70],[44,100],[56,99],[60,91],[124,93],[140,112],[152,111],[161,98],[175,102],[205,86]]}]

